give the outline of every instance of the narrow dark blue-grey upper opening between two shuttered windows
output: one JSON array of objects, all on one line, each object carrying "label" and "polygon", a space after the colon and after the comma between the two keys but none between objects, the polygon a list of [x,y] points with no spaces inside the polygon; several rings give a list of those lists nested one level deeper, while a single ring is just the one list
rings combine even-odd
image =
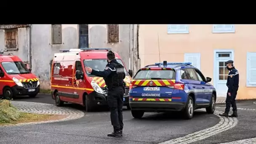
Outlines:
[{"label": "narrow dark blue-grey upper opening between two shuttered windows", "polygon": [[88,24],[79,24],[79,48],[88,48]]}]

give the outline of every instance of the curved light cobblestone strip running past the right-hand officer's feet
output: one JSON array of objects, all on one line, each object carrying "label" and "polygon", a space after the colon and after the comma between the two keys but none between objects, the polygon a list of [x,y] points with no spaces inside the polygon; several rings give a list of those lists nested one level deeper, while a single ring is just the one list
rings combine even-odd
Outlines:
[{"label": "curved light cobblestone strip running past the right-hand officer's feet", "polygon": [[160,144],[190,144],[195,141],[206,139],[210,136],[216,135],[223,131],[227,131],[231,128],[234,128],[237,125],[236,117],[221,117],[219,116],[219,114],[221,113],[223,112],[221,111],[214,112],[214,115],[217,115],[221,120],[219,121],[219,123],[217,123],[213,127],[188,134],[187,136],[171,139],[169,141],[165,141]]}]

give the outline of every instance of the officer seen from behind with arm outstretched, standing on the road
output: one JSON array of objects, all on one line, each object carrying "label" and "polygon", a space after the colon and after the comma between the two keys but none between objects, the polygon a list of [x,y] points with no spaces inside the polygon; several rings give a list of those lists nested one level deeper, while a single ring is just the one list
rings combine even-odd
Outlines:
[{"label": "officer seen from behind with arm outstretched, standing on the road", "polygon": [[96,71],[90,67],[85,67],[85,70],[92,75],[104,77],[108,88],[107,104],[110,108],[111,123],[114,127],[114,132],[107,136],[120,137],[123,136],[123,94],[125,78],[124,67],[115,59],[115,53],[109,51],[107,53],[108,64],[104,71]]}]

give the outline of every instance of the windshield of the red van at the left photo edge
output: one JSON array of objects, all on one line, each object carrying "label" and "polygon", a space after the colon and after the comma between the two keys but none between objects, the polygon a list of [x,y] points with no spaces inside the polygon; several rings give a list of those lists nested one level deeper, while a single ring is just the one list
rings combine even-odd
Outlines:
[{"label": "windshield of the red van at the left photo edge", "polygon": [[30,71],[27,69],[22,61],[8,61],[2,62],[3,69],[8,74],[29,74]]}]

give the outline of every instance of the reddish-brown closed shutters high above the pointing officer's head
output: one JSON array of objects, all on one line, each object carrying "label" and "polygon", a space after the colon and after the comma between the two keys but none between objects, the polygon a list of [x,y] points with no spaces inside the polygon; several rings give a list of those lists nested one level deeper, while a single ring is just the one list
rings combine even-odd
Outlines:
[{"label": "reddish-brown closed shutters high above the pointing officer's head", "polygon": [[119,24],[108,24],[108,43],[119,43]]}]

